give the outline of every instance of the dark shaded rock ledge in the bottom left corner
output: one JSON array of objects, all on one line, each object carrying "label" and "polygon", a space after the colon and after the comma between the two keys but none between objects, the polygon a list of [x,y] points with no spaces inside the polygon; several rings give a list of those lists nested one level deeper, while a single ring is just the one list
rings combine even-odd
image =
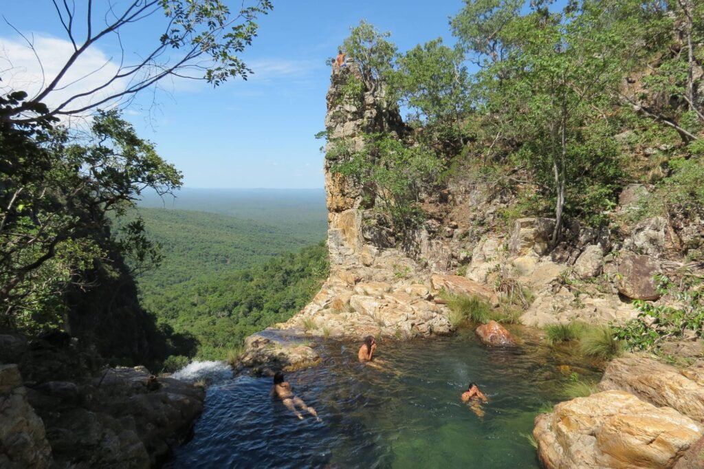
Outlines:
[{"label": "dark shaded rock ledge in the bottom left corner", "polygon": [[107,368],[79,380],[27,375],[32,381],[23,382],[17,364],[0,364],[3,469],[149,468],[187,437],[203,411],[203,387],[155,380],[144,367]]}]

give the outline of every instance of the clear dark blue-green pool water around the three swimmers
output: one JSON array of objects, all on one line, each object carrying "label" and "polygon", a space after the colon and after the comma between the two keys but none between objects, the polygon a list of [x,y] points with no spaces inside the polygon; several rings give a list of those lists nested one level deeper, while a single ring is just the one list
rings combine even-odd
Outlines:
[{"label": "clear dark blue-green pool water around the three swimmers", "polygon": [[[524,434],[536,411],[562,397],[570,356],[526,343],[486,349],[472,331],[382,342],[378,370],[358,344],[318,347],[318,368],[287,374],[322,422],[302,421],[270,397],[271,378],[241,375],[210,387],[193,439],[168,468],[537,468]],[[572,369],[570,369],[571,371]],[[579,368],[580,379],[596,372]],[[569,371],[567,372],[569,374]],[[460,402],[470,381],[484,416]]]}]

